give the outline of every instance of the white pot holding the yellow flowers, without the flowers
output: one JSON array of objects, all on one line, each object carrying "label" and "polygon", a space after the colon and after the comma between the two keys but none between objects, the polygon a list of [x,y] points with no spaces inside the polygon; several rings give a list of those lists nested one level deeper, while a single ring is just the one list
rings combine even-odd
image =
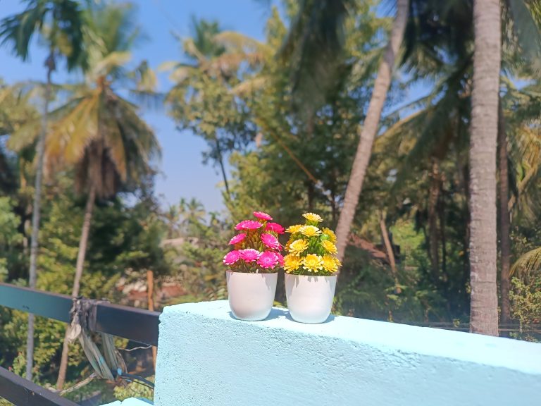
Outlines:
[{"label": "white pot holding the yellow flowers, without the flowers", "polygon": [[287,308],[294,321],[323,323],[335,297],[336,275],[311,276],[285,274]]}]

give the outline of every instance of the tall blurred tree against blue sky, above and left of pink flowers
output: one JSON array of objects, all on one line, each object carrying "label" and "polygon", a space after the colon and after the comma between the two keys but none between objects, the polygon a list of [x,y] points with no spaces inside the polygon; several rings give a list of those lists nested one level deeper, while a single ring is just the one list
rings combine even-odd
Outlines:
[{"label": "tall blurred tree against blue sky, above and left of pink flowers", "polygon": [[179,128],[193,130],[209,144],[204,160],[218,164],[229,197],[226,154],[246,147],[256,135],[246,106],[229,90],[239,84],[247,67],[259,65],[266,47],[238,32],[222,30],[216,21],[195,18],[192,37],[185,39],[182,47],[187,62],[162,65],[162,69],[171,70],[175,84],[166,99],[170,114]]}]

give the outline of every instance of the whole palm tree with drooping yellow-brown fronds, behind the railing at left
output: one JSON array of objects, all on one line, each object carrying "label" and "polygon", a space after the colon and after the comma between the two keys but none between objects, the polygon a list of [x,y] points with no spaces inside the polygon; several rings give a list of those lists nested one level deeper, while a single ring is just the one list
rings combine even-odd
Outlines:
[{"label": "whole palm tree with drooping yellow-brown fronds, behind the railing at left", "polygon": [[[48,169],[75,168],[75,188],[87,195],[72,296],[79,295],[92,209],[96,199],[132,189],[152,173],[159,154],[158,141],[140,118],[137,106],[116,91],[119,80],[135,79],[125,69],[130,47],[137,38],[129,6],[96,6],[87,11],[89,69],[86,82],[55,115],[45,154]],[[146,65],[144,65],[146,66]],[[137,70],[139,75],[142,69]],[[149,84],[149,80],[142,82]],[[150,81],[151,82],[151,81]],[[68,364],[64,340],[56,386],[63,387]]]}]

